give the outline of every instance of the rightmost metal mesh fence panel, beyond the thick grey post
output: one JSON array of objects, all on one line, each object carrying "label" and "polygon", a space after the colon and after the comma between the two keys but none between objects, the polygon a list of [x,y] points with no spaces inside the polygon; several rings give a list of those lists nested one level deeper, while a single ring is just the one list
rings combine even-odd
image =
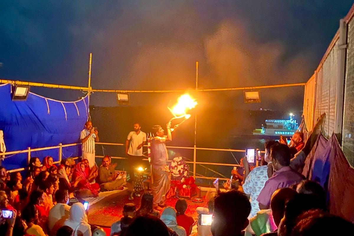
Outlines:
[{"label": "rightmost metal mesh fence panel, beyond the thick grey post", "polygon": [[354,167],[354,20],[348,23],[347,58],[344,84],[344,112],[342,149],[349,164]]}]

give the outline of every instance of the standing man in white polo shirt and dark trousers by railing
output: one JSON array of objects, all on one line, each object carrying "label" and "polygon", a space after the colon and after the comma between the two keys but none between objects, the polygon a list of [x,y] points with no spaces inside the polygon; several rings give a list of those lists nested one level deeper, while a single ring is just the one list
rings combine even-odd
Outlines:
[{"label": "standing man in white polo shirt and dark trousers by railing", "polygon": [[125,154],[128,156],[130,182],[135,181],[134,170],[142,165],[143,146],[146,142],[146,133],[142,132],[139,123],[134,124],[134,131],[128,134],[125,141]]}]

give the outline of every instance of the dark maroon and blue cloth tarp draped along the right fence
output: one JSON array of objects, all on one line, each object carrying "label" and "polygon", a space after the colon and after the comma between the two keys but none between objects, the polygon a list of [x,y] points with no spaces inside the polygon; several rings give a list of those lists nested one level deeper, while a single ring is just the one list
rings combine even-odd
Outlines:
[{"label": "dark maroon and blue cloth tarp draped along the right fence", "polygon": [[354,223],[354,168],[350,167],[335,134],[319,135],[302,174],[327,191],[330,213]]}]

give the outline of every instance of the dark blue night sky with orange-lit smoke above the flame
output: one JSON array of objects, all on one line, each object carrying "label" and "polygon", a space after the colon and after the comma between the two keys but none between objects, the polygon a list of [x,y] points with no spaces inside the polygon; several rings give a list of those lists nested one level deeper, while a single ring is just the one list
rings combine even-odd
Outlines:
[{"label": "dark blue night sky with orange-lit smoke above the flame", "polygon": [[[353,1],[2,1],[2,79],[87,86],[93,53],[93,88],[170,90],[305,82]],[[80,91],[31,88],[76,100]],[[131,96],[154,103],[160,95]],[[162,96],[162,95],[161,95]],[[169,95],[163,95],[169,96]],[[262,103],[241,92],[220,96],[238,108],[301,109],[303,88],[262,90]],[[287,102],[284,102],[287,101]],[[92,96],[116,105],[115,94]]]}]

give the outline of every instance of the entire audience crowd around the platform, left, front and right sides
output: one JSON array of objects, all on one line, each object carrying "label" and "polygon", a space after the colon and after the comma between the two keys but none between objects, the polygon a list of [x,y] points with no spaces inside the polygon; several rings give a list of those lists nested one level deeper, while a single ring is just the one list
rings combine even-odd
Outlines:
[{"label": "entire audience crowd around the platform, left, front and right sides", "polygon": [[[324,116],[321,116],[303,145],[298,143],[302,137],[295,135],[297,140],[292,146],[302,147],[296,154],[291,145],[274,140],[266,142],[261,166],[251,168],[244,159],[245,170],[238,183],[228,181],[224,184],[225,190],[219,191],[216,182],[218,191],[205,197],[205,207],[196,208],[198,214],[212,215],[210,224],[187,215],[188,205],[184,199],[178,199],[175,208],[156,211],[153,194],[146,191],[139,207],[134,203],[125,204],[123,217],[112,224],[110,236],[351,234],[353,222],[330,214],[324,188],[306,180],[298,171],[323,121]],[[120,188],[121,180],[109,157],[103,158],[102,166],[92,168],[85,160],[79,163],[64,160],[56,168],[50,157],[45,158],[43,166],[38,161],[34,158],[30,162],[32,172],[27,178],[22,178],[19,172],[9,176],[6,169],[0,167],[0,207],[12,212],[12,217],[0,218],[0,232],[5,232],[6,236],[105,235],[102,229],[89,224],[87,210],[79,199]]]}]

